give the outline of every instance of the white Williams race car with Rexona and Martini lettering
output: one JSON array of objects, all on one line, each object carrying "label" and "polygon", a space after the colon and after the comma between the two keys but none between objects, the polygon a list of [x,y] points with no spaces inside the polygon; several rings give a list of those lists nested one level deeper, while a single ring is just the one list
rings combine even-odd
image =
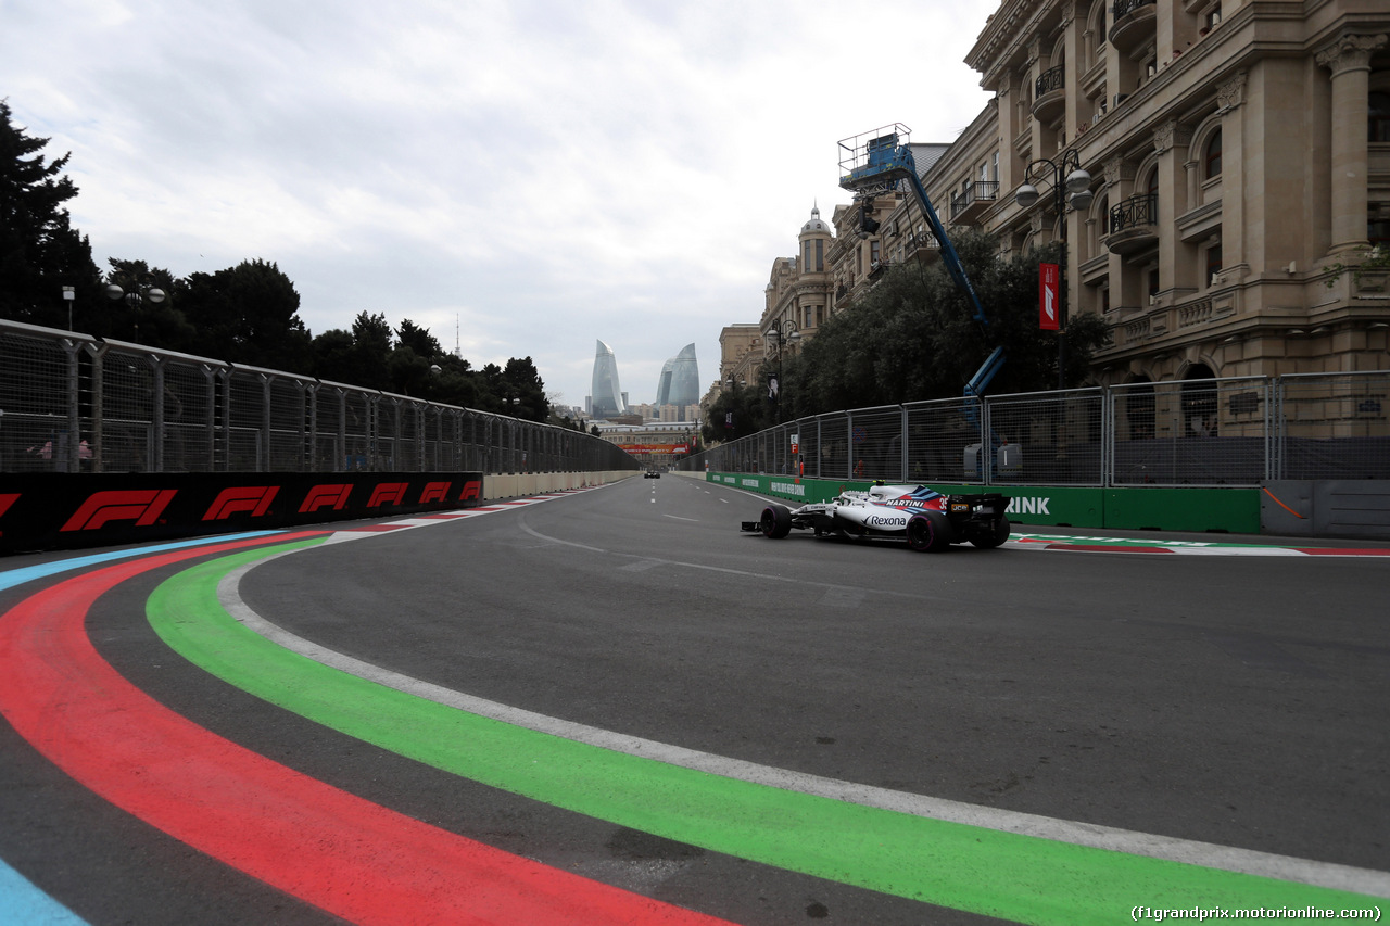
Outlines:
[{"label": "white Williams race car with Rexona and Martini lettering", "polygon": [[1009,539],[1009,501],[998,494],[942,495],[926,485],[873,485],[867,492],[841,492],[828,502],[790,509],[773,502],[741,530],[780,539],[791,528],[816,537],[906,539],[919,552],[937,553],[969,541],[992,548]]}]

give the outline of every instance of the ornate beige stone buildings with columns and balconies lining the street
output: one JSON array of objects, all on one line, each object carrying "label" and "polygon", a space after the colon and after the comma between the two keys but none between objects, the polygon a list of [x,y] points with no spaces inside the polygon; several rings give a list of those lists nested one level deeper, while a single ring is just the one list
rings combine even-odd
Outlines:
[{"label": "ornate beige stone buildings with columns and balconies lining the street", "polygon": [[[1005,254],[1065,235],[1068,311],[1111,327],[1094,382],[1390,368],[1390,274],[1350,270],[1390,246],[1387,35],[1384,0],[1008,0],[966,58],[995,99],[913,154],[948,231]],[[1077,170],[1090,202],[1058,216]],[[835,209],[827,314],[935,259],[913,197],[873,217],[860,238]],[[764,338],[815,332],[801,260],[774,264]]]}]

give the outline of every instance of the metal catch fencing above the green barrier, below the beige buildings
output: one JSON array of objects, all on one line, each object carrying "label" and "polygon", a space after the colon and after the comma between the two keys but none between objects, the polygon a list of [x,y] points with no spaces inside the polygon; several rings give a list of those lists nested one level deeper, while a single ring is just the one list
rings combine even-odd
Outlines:
[{"label": "metal catch fencing above the green barrier, below the beige buildings", "polygon": [[986,485],[1390,478],[1390,371],[1143,382],[801,419],[687,470]]}]

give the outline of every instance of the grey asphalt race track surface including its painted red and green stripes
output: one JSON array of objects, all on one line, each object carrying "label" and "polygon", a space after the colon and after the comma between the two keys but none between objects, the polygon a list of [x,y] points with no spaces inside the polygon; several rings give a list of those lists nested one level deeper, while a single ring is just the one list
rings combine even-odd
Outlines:
[{"label": "grey asphalt race track surface including its painted red and green stripes", "polygon": [[0,560],[0,923],[1390,908],[1387,545],[760,507],[667,476]]}]

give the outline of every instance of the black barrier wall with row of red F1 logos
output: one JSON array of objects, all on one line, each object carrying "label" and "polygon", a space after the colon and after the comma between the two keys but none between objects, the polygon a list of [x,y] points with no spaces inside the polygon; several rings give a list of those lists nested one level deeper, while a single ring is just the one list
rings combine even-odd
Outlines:
[{"label": "black barrier wall with row of red F1 logos", "polygon": [[6,473],[0,553],[475,507],[482,473]]}]

